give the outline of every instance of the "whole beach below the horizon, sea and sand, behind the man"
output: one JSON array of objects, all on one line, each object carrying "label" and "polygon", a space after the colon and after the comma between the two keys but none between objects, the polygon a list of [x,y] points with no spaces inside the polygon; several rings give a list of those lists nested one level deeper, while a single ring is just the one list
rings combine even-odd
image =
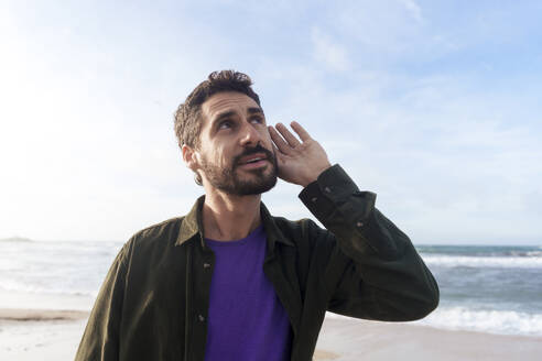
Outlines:
[{"label": "whole beach below the horizon, sea and sand, behind the man", "polygon": [[[73,360],[122,242],[0,242],[0,360]],[[416,322],[328,314],[315,360],[538,360],[542,248],[420,247],[441,288]]]}]

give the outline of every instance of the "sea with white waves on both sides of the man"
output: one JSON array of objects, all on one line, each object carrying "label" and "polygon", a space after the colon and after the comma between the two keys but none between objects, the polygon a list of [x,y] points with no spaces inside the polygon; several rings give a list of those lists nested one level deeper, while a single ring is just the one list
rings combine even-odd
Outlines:
[{"label": "sea with white waves on both sides of the man", "polygon": [[[51,295],[94,298],[122,244],[0,240],[0,292],[37,299]],[[416,324],[542,337],[542,247],[416,245],[416,249],[441,289],[438,308]]]}]

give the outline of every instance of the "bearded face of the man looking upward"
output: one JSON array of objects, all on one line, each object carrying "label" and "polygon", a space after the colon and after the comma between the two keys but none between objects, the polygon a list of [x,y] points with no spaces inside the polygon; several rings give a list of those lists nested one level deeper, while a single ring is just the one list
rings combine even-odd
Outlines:
[{"label": "bearded face of the man looking upward", "polygon": [[219,92],[202,105],[198,165],[230,195],[258,195],[277,184],[277,158],[262,109],[241,92]]}]

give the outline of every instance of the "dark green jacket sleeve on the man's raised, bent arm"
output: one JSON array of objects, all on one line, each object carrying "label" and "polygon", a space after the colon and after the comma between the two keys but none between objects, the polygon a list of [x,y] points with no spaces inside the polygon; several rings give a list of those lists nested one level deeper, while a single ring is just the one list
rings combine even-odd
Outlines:
[{"label": "dark green jacket sleeve on the man's raised, bent arm", "polygon": [[[324,247],[316,259],[327,309],[357,318],[405,321],[438,305],[438,286],[410,239],[359,192],[339,165],[324,171],[300,198],[327,228],[310,233]],[[324,264],[322,264],[324,263]]]}]

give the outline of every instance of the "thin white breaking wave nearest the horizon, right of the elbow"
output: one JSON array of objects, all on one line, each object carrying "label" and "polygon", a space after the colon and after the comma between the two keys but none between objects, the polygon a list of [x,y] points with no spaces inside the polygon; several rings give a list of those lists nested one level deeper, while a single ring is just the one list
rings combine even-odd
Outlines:
[{"label": "thin white breaking wave nearest the horizon, right of the elbow", "polygon": [[542,269],[542,256],[421,255],[427,265],[447,267]]}]

